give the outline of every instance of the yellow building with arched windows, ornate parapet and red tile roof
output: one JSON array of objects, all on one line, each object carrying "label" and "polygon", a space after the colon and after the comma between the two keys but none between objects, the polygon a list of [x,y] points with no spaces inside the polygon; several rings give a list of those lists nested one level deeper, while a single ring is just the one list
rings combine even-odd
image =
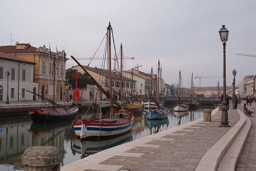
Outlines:
[{"label": "yellow building with arched windows, ornate parapet and red tile roof", "polygon": [[[50,55],[49,49],[45,45],[36,48],[29,43],[19,42],[16,42],[15,46],[0,46],[0,52],[36,63],[34,66],[33,81],[38,83],[38,87],[37,89],[34,88],[33,92],[53,99],[53,60],[56,57],[55,52],[51,52]],[[61,52],[58,51],[57,56],[55,100],[62,100],[62,92],[64,92],[63,95],[65,97],[65,82],[63,80],[66,80],[65,68],[68,58],[64,57],[63,62],[63,50]]]}]

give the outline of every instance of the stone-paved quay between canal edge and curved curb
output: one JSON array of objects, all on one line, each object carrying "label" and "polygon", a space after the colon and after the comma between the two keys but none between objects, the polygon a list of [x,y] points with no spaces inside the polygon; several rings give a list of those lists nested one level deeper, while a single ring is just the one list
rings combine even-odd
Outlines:
[{"label": "stone-paved quay between canal edge and curved curb", "polygon": [[[229,109],[228,120],[231,128],[220,128],[218,126],[220,125],[221,111],[216,111],[212,112],[215,114],[212,116],[212,122],[203,122],[201,118],[98,152],[61,167],[61,170],[194,171],[204,154],[240,119],[237,110]],[[155,154],[149,154],[149,152]]]}]

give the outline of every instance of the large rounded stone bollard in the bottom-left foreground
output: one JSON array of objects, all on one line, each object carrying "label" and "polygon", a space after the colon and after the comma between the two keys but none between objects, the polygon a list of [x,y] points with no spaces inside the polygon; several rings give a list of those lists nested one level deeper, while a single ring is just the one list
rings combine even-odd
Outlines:
[{"label": "large rounded stone bollard in the bottom-left foreground", "polygon": [[61,154],[53,146],[33,146],[22,155],[24,171],[60,171]]}]

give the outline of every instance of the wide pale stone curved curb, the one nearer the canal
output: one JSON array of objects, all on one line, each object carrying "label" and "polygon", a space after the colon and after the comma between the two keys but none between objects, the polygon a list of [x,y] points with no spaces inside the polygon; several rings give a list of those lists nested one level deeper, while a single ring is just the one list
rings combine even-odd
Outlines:
[{"label": "wide pale stone curved curb, the one nearer the canal", "polygon": [[202,159],[199,161],[195,171],[217,170],[220,160],[244,127],[245,116],[241,113],[239,113],[239,115],[240,120],[222,138],[220,138],[219,141],[217,141],[210,149],[207,150]]}]

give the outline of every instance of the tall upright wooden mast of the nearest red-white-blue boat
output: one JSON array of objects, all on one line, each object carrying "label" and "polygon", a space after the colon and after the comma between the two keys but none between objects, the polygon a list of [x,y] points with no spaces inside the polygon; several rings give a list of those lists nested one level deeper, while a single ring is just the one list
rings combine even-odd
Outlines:
[{"label": "tall upright wooden mast of the nearest red-white-blue boat", "polygon": [[[108,78],[109,78],[109,111],[112,113],[112,79],[111,79],[111,25],[107,27],[108,30]],[[112,115],[110,115],[112,117]]]}]

